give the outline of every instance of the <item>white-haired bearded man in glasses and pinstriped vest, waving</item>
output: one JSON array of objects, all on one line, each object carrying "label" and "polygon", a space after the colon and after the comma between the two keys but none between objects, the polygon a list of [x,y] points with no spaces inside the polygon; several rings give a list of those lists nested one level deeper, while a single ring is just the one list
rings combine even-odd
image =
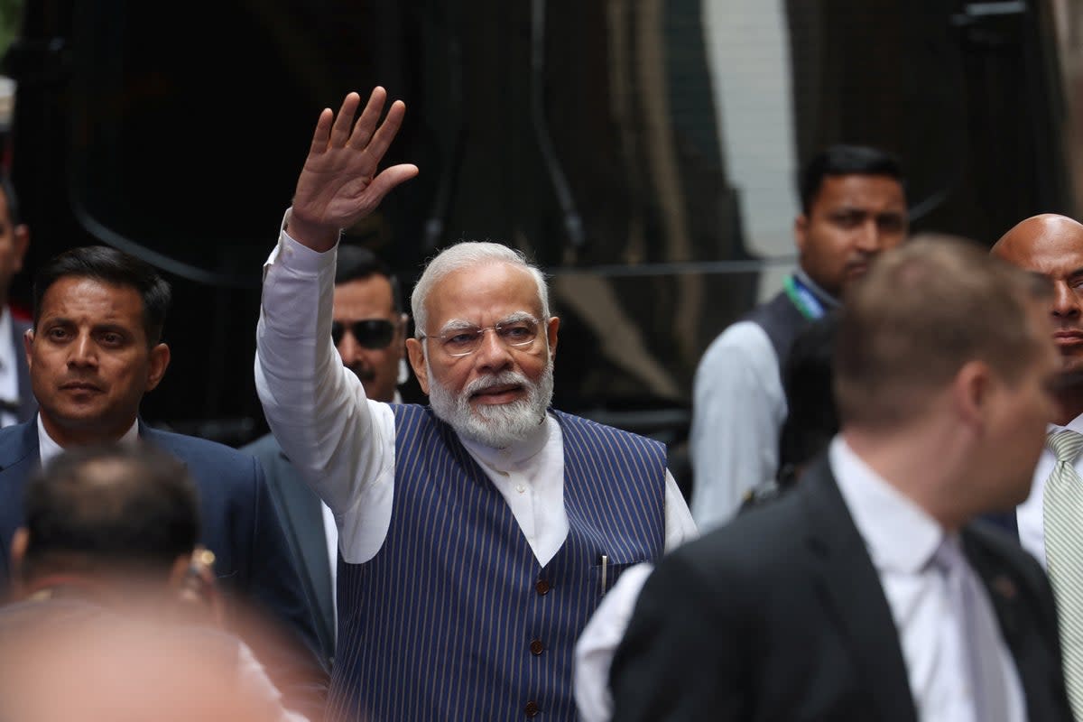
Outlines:
[{"label": "white-haired bearded man in glasses and pinstriped vest, waving", "polygon": [[[575,641],[621,573],[695,536],[655,442],[549,408],[560,320],[518,251],[460,242],[412,297],[430,406],[365,397],[335,354],[340,229],[418,170],[377,88],[324,109],[264,266],[256,381],[339,527],[327,720],[576,719]],[[379,171],[379,172],[378,172]]]}]

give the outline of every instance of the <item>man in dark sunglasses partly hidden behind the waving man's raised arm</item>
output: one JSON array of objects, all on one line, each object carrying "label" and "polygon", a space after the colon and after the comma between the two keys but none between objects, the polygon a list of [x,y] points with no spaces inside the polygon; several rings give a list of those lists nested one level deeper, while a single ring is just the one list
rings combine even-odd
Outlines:
[{"label": "man in dark sunglasses partly hidden behind the waving man's raised arm", "polygon": [[[339,246],[335,265],[331,340],[342,365],[354,372],[368,398],[401,403],[406,381],[405,337],[409,316],[402,311],[399,280],[371,251]],[[327,504],[302,480],[296,467],[266,434],[242,451],[259,459],[278,507],[305,593],[313,605],[324,664],[335,655],[335,577],[338,528]]]}]

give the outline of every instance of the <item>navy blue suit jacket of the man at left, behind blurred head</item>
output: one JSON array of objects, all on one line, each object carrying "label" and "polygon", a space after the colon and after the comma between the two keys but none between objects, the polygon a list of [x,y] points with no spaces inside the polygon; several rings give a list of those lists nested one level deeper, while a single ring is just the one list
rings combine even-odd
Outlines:
[{"label": "navy blue suit jacket of the man at left, behind blurred head", "polygon": [[[264,652],[261,660],[272,675],[285,680],[280,686],[287,701],[291,695],[286,687],[296,682],[304,698],[295,700],[293,707],[317,709],[327,673],[316,657],[312,614],[259,463],[223,444],[151,429],[142,422],[140,437],[187,465],[199,494],[201,541],[214,552],[223,596],[238,600],[255,618],[269,619],[274,632],[280,628],[283,635],[272,635],[276,642],[270,647],[252,646]],[[37,416],[0,429],[0,583],[4,588],[11,577],[11,540],[23,523],[23,493],[39,465]]]}]

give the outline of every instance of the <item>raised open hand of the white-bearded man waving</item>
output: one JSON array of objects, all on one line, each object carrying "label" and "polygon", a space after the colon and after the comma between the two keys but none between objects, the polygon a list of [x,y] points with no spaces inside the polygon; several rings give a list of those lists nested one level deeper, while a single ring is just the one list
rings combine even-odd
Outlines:
[{"label": "raised open hand of the white-bearded man waving", "polygon": [[371,213],[392,188],[417,175],[417,166],[377,168],[399,132],[406,105],[395,101],[379,122],[388,93],[375,88],[357,122],[361,95],[350,93],[338,115],[324,108],[297,180],[288,233],[315,251],[330,250],[339,231]]}]

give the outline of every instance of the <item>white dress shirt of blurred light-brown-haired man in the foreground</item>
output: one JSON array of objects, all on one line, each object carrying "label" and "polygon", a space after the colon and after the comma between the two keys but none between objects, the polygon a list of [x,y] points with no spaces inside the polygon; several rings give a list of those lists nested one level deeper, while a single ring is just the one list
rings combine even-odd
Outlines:
[{"label": "white dress shirt of blurred light-brown-haired man in the foreground", "polygon": [[[891,608],[918,720],[981,722],[976,719],[965,674],[965,651],[956,643],[961,630],[948,587],[943,575],[930,564],[944,539],[943,528],[876,474],[840,436],[832,441],[828,456],[838,489],[865,540]],[[969,565],[966,570],[976,575]],[[980,580],[978,586],[986,591]],[[982,614],[995,619],[988,593],[982,593],[978,603],[984,607]],[[1022,722],[1027,712],[1015,659],[1003,636],[997,646],[1002,677],[1007,680],[1006,719]]]}]

